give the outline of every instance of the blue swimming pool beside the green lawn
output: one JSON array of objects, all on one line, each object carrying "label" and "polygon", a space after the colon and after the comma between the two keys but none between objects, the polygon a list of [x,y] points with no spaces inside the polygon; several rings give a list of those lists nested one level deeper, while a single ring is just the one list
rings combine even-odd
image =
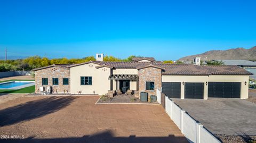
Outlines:
[{"label": "blue swimming pool beside the green lawn", "polygon": [[0,83],[0,89],[20,89],[35,85],[35,81],[8,81]]}]

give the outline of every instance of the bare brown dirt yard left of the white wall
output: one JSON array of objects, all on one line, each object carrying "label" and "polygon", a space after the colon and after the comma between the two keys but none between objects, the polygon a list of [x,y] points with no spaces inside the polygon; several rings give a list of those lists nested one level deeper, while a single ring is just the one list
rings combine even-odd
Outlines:
[{"label": "bare brown dirt yard left of the white wall", "polygon": [[[0,142],[187,142],[161,105],[95,105],[99,96],[0,104]],[[24,139],[10,139],[10,138]]]}]

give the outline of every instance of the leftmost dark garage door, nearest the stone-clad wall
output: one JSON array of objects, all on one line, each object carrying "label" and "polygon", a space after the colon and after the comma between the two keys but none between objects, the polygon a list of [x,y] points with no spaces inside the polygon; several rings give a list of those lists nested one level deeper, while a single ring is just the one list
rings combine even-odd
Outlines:
[{"label": "leftmost dark garage door, nearest the stone-clad wall", "polygon": [[162,92],[170,98],[180,98],[181,82],[162,82]]}]

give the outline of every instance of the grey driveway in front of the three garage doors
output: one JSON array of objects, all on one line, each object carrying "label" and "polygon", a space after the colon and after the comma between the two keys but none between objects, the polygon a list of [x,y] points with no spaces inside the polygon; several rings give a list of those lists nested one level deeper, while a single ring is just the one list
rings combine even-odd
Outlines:
[{"label": "grey driveway in front of the three garage doors", "polygon": [[256,135],[256,104],[243,99],[173,99],[214,134]]}]

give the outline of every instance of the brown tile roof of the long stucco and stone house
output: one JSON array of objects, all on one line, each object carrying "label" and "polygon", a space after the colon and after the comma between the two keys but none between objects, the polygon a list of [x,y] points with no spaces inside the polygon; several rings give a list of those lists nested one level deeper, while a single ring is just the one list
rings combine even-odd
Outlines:
[{"label": "brown tile roof of the long stucco and stone house", "polygon": [[161,62],[101,62],[90,61],[81,64],[59,64],[50,65],[43,68],[34,69],[41,70],[52,66],[60,66],[63,68],[71,68],[87,63],[99,64],[98,68],[103,66],[116,69],[142,69],[148,67],[156,67],[162,69],[163,75],[252,75],[251,72],[239,68],[236,65],[193,65],[193,64],[162,64]]}]

